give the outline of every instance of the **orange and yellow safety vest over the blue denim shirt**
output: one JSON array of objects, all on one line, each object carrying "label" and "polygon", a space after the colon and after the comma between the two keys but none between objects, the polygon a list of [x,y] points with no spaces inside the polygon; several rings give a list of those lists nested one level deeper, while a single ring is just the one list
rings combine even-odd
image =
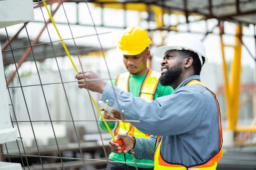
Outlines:
[{"label": "orange and yellow safety vest over the blue denim shirt", "polygon": [[[192,80],[187,85],[203,85],[204,87],[206,87],[203,83],[201,83],[198,80]],[[219,152],[215,156],[213,156],[211,159],[209,159],[209,161],[207,161],[203,164],[196,164],[196,165],[193,165],[191,167],[186,167],[183,164],[168,163],[168,162],[163,160],[163,158],[160,154],[160,147],[161,147],[161,141],[162,141],[163,136],[157,136],[156,150],[155,150],[155,153],[154,153],[154,170],[216,170],[218,161],[221,159],[221,157],[223,155],[223,150],[222,150],[222,126],[221,126],[221,113],[220,113],[218,100],[216,99],[216,95],[212,91],[210,91],[210,92],[215,97],[215,100],[216,100],[216,103],[217,103],[217,106],[218,106],[218,118],[219,118],[219,127],[220,127],[219,130],[220,130],[220,139],[221,139],[221,141],[220,141],[221,148],[220,148]]]}]

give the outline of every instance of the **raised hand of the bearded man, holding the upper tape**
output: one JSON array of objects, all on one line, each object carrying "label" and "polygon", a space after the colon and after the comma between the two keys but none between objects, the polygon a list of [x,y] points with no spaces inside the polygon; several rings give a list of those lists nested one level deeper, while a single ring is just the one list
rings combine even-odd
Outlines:
[{"label": "raised hand of the bearded man, holding the upper tape", "polygon": [[[84,77],[86,79],[87,85],[85,84]],[[88,90],[98,92],[101,94],[107,84],[106,82],[104,82],[102,80],[93,80],[93,79],[100,79],[99,76],[96,73],[94,73],[93,71],[85,71],[84,73],[79,72],[76,75],[76,79],[79,80],[78,81],[79,88],[87,89],[87,86],[88,86]]]}]

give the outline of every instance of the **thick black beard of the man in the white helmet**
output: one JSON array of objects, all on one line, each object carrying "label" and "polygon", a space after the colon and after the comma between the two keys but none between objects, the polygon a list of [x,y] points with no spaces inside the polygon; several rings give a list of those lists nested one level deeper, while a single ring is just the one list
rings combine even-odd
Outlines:
[{"label": "thick black beard of the man in the white helmet", "polygon": [[167,71],[159,78],[159,82],[163,86],[172,85],[173,82],[176,82],[180,79],[182,73],[182,62],[177,63],[173,67],[166,65]]}]

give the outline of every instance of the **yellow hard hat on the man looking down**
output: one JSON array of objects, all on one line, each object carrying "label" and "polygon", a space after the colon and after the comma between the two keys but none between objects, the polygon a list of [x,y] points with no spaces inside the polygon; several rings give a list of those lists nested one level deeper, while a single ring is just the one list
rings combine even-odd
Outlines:
[{"label": "yellow hard hat on the man looking down", "polygon": [[152,44],[148,33],[140,26],[131,26],[125,29],[117,47],[123,55],[137,55],[143,52],[149,44]]}]

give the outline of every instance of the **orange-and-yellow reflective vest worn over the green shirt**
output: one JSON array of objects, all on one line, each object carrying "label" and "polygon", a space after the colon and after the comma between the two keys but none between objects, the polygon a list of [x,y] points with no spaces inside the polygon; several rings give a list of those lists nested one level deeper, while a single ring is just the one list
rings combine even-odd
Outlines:
[{"label": "orange-and-yellow reflective vest worn over the green shirt", "polygon": [[[146,101],[151,101],[154,99],[154,94],[157,89],[158,79],[160,76],[161,76],[160,73],[149,69],[148,74],[145,77],[140,90],[140,97],[142,97]],[[116,78],[116,87],[122,89],[123,91],[129,92],[129,77],[130,77],[129,72],[120,74]],[[131,123],[129,122],[119,122],[115,130],[115,136],[117,134],[128,134],[131,136],[137,136],[137,137],[143,137],[143,138],[150,137],[150,135],[140,132],[136,127],[131,125]]]}]

